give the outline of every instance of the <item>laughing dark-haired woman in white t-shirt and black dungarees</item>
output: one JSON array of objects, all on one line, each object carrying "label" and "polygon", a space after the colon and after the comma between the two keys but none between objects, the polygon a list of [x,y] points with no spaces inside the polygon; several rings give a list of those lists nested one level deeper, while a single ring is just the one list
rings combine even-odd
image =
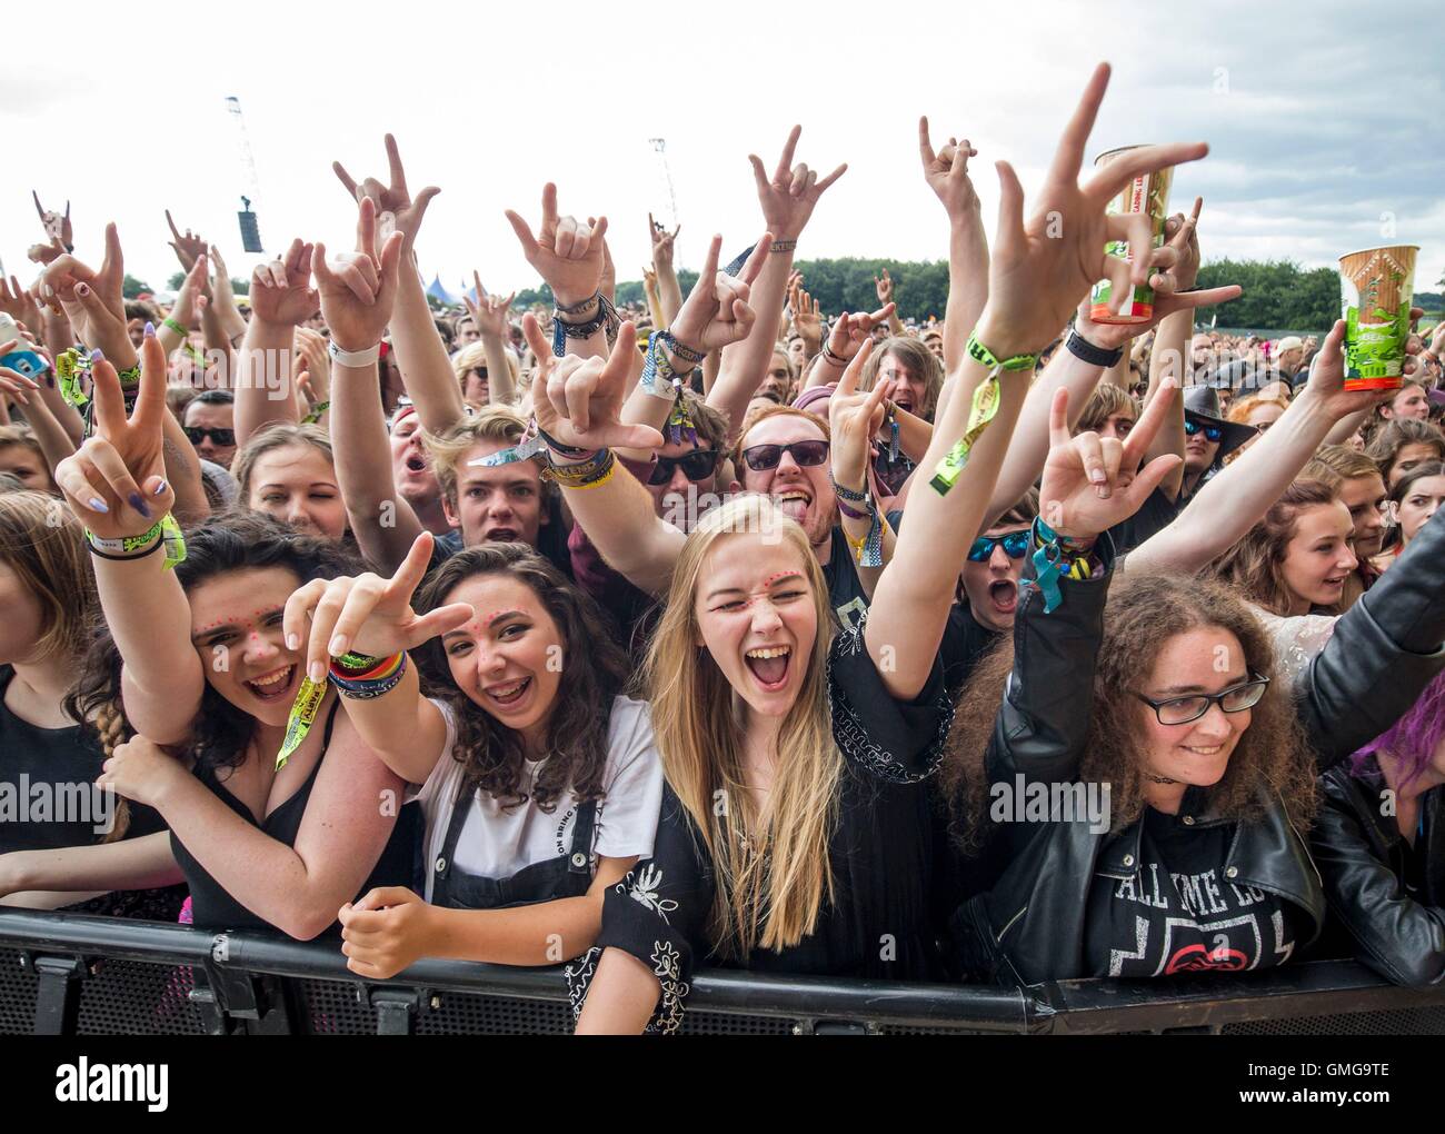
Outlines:
[{"label": "laughing dark-haired woman in white t-shirt and black dungarees", "polygon": [[387,887],[344,906],[342,952],[376,978],[422,956],[558,964],[591,948],[603,894],[652,854],[647,706],[623,695],[627,657],[600,608],[530,547],[451,556],[418,615],[431,552],[422,534],[392,579],[308,584],[286,605],[309,676],[329,663],[357,731],[420,784],[426,813],[425,900]]}]

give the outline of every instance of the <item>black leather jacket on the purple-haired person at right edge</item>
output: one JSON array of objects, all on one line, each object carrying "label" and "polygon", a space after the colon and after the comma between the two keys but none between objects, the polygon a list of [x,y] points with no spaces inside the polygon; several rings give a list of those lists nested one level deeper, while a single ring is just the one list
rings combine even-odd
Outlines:
[{"label": "black leather jacket on the purple-haired person at right edge", "polygon": [[1311,844],[1325,878],[1329,913],[1354,955],[1396,984],[1445,978],[1445,787],[1420,796],[1419,888],[1406,893],[1409,847],[1394,815],[1383,815],[1384,779],[1360,779],[1345,764],[1321,777],[1324,806]]}]

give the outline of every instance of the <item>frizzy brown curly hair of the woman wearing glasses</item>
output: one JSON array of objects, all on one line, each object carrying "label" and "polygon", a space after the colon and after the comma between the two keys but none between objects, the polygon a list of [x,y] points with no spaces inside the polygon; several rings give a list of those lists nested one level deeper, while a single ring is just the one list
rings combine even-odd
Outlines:
[{"label": "frizzy brown curly hair of the woman wearing glasses", "polygon": [[[1104,610],[1104,637],[1094,672],[1094,711],[1077,779],[1108,783],[1111,829],[1144,812],[1143,688],[1165,646],[1178,634],[1220,627],[1238,639],[1246,666],[1274,675],[1274,649],[1248,605],[1217,579],[1140,572],[1116,579]],[[1013,639],[983,659],[964,688],[944,760],[942,787],[959,847],[977,852],[987,841],[988,770],[984,764],[1013,669]],[[1250,727],[1230,756],[1222,779],[1208,789],[1209,809],[1237,822],[1263,815],[1260,789],[1279,797],[1296,829],[1315,815],[1315,761],[1295,714],[1290,689],[1272,683],[1250,715]]]}]

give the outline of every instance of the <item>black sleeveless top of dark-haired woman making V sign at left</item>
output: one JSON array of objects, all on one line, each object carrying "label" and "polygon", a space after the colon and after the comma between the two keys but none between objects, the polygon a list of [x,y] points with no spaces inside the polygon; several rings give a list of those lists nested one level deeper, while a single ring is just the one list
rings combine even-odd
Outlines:
[{"label": "black sleeveless top of dark-haired woman making V sign at left", "polygon": [[[240,815],[247,823],[260,828],[283,847],[295,847],[296,835],[301,832],[301,821],[306,815],[306,802],[311,799],[311,789],[316,784],[316,773],[321,771],[321,764],[327,758],[327,748],[331,745],[331,727],[335,724],[337,709],[340,706],[340,699],[331,704],[331,712],[327,717],[327,731],[321,740],[321,760],[318,760],[316,766],[311,770],[311,776],[306,777],[306,782],[296,789],[290,799],[276,808],[276,810],[267,815],[260,823],[256,822],[256,816],[251,815],[250,808],[233,796],[225,784],[217,779],[215,769],[198,766],[195,776],[211,790],[212,795],[218,796],[227,808]],[[419,803],[413,802],[402,808],[396,816],[396,826],[392,829],[392,836],[387,839],[386,848],[381,851],[381,858],[377,861],[371,875],[361,884],[361,888],[357,890],[357,899],[363,897],[368,890],[377,886],[405,886],[420,891],[423,826],[425,822],[422,819],[422,809]],[[171,834],[171,849],[176,857],[176,862],[181,864],[181,870],[185,873],[185,880],[191,887],[191,917],[197,927],[211,930],[275,929],[275,926],[264,917],[251,913],[251,910],[233,899],[225,888],[205,871],[199,861],[197,861],[195,855],[185,848],[185,844],[176,838],[175,832]],[[338,933],[338,923],[332,923],[327,930],[328,936]]]}]

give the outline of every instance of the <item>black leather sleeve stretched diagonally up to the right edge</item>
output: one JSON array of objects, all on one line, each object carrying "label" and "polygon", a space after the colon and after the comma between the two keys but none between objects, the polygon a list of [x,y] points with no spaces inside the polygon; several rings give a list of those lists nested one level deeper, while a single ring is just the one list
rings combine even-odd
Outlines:
[{"label": "black leather sleeve stretched diagonally up to the right edge", "polygon": [[1321,770],[1393,725],[1445,669],[1445,513],[1366,591],[1295,686]]}]

